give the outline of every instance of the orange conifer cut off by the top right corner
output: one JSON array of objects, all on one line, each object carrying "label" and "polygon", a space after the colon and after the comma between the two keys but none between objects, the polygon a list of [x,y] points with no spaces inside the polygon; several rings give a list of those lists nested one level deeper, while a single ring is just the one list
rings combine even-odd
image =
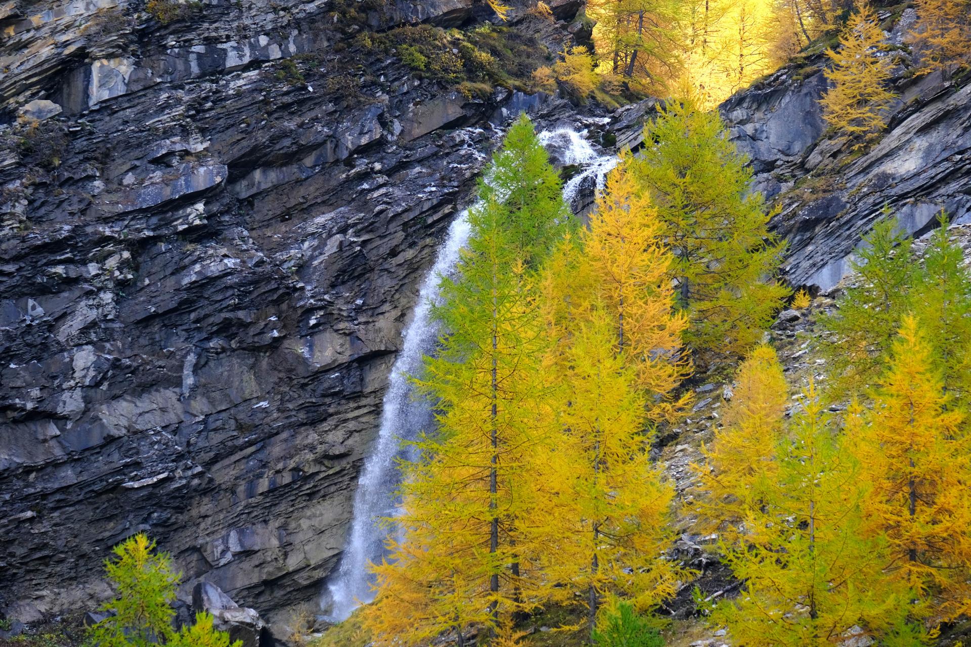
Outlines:
[{"label": "orange conifer cut off by the top right corner", "polygon": [[971,1],[917,0],[914,37],[924,72],[971,61]]}]

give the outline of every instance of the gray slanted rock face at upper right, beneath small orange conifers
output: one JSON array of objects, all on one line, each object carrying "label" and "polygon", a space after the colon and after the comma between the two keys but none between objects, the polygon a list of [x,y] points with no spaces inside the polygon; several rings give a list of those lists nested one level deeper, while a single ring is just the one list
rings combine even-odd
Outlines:
[{"label": "gray slanted rock face at upper right, beneath small orange conifers", "polygon": [[879,143],[853,156],[824,137],[815,67],[783,70],[732,97],[720,110],[732,140],[752,158],[755,188],[782,211],[771,226],[789,242],[785,267],[793,284],[828,289],[850,269],[860,238],[885,208],[920,234],[946,210],[971,212],[971,85],[945,76],[910,78],[899,66],[900,100]]}]

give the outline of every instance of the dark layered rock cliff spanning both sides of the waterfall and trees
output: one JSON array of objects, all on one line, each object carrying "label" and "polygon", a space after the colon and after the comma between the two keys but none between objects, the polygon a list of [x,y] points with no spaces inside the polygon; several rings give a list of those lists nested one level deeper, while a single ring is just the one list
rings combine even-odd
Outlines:
[{"label": "dark layered rock cliff spanning both sides of the waterfall and trees", "polygon": [[[582,36],[580,3],[550,4],[503,47]],[[91,606],[139,530],[184,598],[205,579],[271,620],[313,601],[419,280],[502,126],[640,143],[651,102],[470,91],[372,44],[482,24],[478,3],[379,6],[0,2],[0,615]],[[722,113],[783,205],[788,277],[827,287],[885,202],[912,231],[971,209],[971,86],[901,65],[887,136],[849,161],[819,65]]]}]

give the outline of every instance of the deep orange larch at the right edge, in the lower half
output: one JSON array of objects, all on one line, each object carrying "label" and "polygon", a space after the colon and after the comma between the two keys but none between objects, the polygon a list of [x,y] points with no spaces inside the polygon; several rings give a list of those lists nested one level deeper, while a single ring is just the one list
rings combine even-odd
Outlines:
[{"label": "deep orange larch at the right edge, in the lower half", "polygon": [[887,537],[887,571],[937,618],[971,609],[971,437],[949,401],[930,344],[904,316],[873,410],[851,437],[872,484],[867,529]]}]

